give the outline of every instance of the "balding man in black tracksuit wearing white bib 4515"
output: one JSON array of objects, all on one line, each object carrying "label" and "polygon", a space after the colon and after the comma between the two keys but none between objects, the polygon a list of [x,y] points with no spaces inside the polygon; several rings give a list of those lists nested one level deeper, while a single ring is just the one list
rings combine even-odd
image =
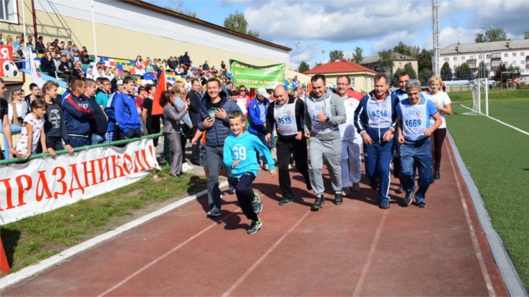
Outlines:
[{"label": "balding man in black tracksuit wearing white bib 4515", "polygon": [[267,136],[270,141],[274,124],[277,128],[277,165],[279,168],[279,186],[283,199],[280,205],[289,204],[294,201],[292,188],[290,186],[290,173],[288,164],[290,154],[294,155],[296,168],[305,178],[308,191],[312,190],[307,170],[307,141],[303,136],[303,114],[305,106],[301,100],[288,95],[285,86],[278,86],[274,90],[275,102],[268,106],[267,113]]}]

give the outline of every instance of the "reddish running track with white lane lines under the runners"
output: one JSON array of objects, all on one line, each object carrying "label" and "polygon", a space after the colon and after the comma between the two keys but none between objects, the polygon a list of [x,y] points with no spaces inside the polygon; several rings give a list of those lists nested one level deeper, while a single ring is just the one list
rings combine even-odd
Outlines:
[{"label": "reddish running track with white lane lines under the runners", "polygon": [[328,193],[324,207],[310,211],[314,195],[294,170],[295,202],[280,207],[277,181],[260,172],[257,234],[246,234],[235,195],[224,195],[214,219],[205,217],[203,196],[0,295],[507,296],[445,144],[426,209],[400,206],[393,180],[383,211],[363,180],[341,206]]}]

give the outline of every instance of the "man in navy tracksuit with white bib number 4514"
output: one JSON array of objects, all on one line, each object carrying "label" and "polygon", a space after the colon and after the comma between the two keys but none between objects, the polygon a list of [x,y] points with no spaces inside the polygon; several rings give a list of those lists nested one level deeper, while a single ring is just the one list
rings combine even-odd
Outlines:
[{"label": "man in navy tracksuit with white bib number 4514", "polygon": [[[374,77],[374,90],[365,95],[354,112],[354,125],[364,143],[365,176],[373,190],[379,188],[379,207],[389,208],[393,133],[397,125],[399,98],[388,91],[389,77]],[[380,184],[379,184],[380,183]]]}]

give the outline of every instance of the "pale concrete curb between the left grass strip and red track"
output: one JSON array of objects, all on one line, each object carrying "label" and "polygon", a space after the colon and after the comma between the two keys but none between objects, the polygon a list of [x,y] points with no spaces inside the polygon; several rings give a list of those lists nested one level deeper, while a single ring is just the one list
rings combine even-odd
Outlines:
[{"label": "pale concrete curb between the left grass strip and red track", "polygon": [[[221,188],[223,188],[224,186],[228,186],[227,181],[221,182],[219,184],[219,187]],[[182,200],[178,200],[173,204],[169,204],[166,207],[158,209],[157,211],[153,211],[148,215],[142,216],[141,218],[137,218],[136,220],[133,220],[130,223],[117,227],[115,230],[101,234],[100,236],[94,237],[93,239],[85,241],[84,243],[79,243],[77,246],[72,246],[72,248],[68,248],[68,250],[63,250],[63,252],[60,252],[57,255],[54,255],[53,257],[49,257],[48,259],[44,259],[38,264],[22,268],[16,273],[8,274],[4,278],[0,279],[0,291],[2,291],[2,289],[6,289],[7,287],[13,286],[13,284],[17,284],[18,282],[22,282],[28,278],[38,275],[51,268],[52,266],[56,266],[61,262],[70,259],[71,257],[74,257],[75,255],[81,252],[89,250],[90,248],[99,246],[105,241],[113,239],[114,237],[123,234],[124,232],[127,232],[143,223],[146,223],[149,220],[152,220],[153,218],[157,218],[158,216],[166,214],[169,211],[176,209],[177,207],[181,207],[182,205],[188,202],[196,200],[196,198],[205,194],[207,194],[207,190],[204,190],[200,193],[196,193],[195,195],[188,196],[186,198],[183,198]]]}]

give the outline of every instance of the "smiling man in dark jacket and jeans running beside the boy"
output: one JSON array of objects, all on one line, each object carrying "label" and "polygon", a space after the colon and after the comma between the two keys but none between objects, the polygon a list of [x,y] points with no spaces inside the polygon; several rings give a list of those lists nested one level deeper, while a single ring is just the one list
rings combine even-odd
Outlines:
[{"label": "smiling man in dark jacket and jeans running beside the boy", "polygon": [[[221,215],[221,191],[219,190],[219,168],[223,165],[224,141],[230,135],[229,115],[232,111],[240,111],[237,103],[228,100],[221,90],[221,83],[216,79],[208,79],[207,94],[201,102],[198,113],[198,129],[206,132],[207,166],[210,175],[207,177],[207,200],[210,204],[208,216]],[[232,177],[230,168],[226,167],[226,175]]]}]

